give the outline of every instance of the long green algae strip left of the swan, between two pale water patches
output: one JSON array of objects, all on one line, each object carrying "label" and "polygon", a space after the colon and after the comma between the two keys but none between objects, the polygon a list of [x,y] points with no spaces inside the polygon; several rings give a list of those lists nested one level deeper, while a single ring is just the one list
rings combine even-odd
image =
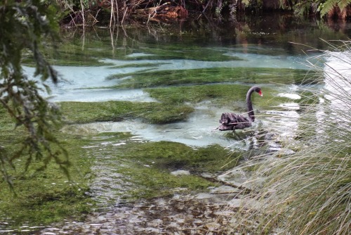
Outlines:
[{"label": "long green algae strip left of the swan, between two pale water patches", "polygon": [[141,119],[144,122],[164,124],[185,120],[193,112],[190,106],[169,106],[156,102],[62,102],[67,122],[87,123]]}]

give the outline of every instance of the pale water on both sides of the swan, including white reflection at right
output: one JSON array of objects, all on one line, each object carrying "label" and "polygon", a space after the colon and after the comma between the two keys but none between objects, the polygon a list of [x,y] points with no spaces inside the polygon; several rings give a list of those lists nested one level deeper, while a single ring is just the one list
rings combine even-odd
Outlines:
[{"label": "pale water on both sides of the swan, including white reflection at right", "polygon": [[[124,120],[121,122],[93,122],[74,125],[78,132],[98,134],[103,132],[128,132],[140,141],[173,141],[194,148],[218,144],[225,148],[248,149],[248,141],[255,139],[258,132],[272,132],[282,136],[293,136],[298,127],[296,111],[265,110],[258,113],[253,126],[235,132],[220,132],[217,127],[222,109],[202,108],[195,109],[194,113],[185,122],[174,122],[164,125],[149,124],[140,120]],[[228,138],[228,134],[230,134]],[[260,136],[262,137],[262,136]],[[270,140],[267,144],[273,144]]]}]

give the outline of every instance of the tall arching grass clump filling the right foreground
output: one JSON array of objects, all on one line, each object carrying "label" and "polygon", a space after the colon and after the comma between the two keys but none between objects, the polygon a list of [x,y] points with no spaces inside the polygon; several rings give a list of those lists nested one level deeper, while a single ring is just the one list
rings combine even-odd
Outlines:
[{"label": "tall arching grass clump filling the right foreground", "polygon": [[314,82],[302,88],[296,135],[281,154],[253,163],[254,190],[233,231],[351,234],[351,41],[326,43],[331,50],[307,61]]}]

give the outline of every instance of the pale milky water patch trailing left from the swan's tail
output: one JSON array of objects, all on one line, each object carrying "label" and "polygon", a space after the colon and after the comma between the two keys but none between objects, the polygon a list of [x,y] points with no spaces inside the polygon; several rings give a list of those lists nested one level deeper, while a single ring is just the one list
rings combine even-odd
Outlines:
[{"label": "pale milky water patch trailing left from the swan's tail", "polygon": [[208,110],[196,110],[186,122],[175,122],[164,125],[148,124],[138,120],[121,122],[93,122],[77,125],[84,132],[130,132],[145,141],[175,141],[188,146],[208,146],[220,144],[228,146],[230,140],[223,132],[216,130],[220,110],[208,113]]}]

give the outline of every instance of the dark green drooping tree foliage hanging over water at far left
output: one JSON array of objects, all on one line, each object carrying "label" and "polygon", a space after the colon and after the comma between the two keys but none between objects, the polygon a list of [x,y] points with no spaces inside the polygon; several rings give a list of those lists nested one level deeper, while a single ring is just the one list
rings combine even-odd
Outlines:
[{"label": "dark green drooping tree foliage hanging over water at far left", "polygon": [[[57,82],[55,70],[39,50],[44,37],[53,42],[58,38],[56,10],[54,3],[44,6],[39,0],[20,3],[8,0],[0,6],[0,103],[15,122],[15,128],[26,130],[16,151],[10,152],[0,143],[0,169],[8,183],[11,179],[6,169],[14,167],[13,160],[24,155],[27,158],[25,170],[33,161],[40,160],[42,165],[37,170],[43,170],[55,160],[68,174],[67,154],[53,135],[53,129],[60,125],[60,112],[39,94],[43,85],[46,91],[48,87],[24,75],[21,65],[23,53],[30,54],[35,66],[34,76],[40,76],[43,82],[49,77]],[[52,143],[59,148],[54,151]]]}]

